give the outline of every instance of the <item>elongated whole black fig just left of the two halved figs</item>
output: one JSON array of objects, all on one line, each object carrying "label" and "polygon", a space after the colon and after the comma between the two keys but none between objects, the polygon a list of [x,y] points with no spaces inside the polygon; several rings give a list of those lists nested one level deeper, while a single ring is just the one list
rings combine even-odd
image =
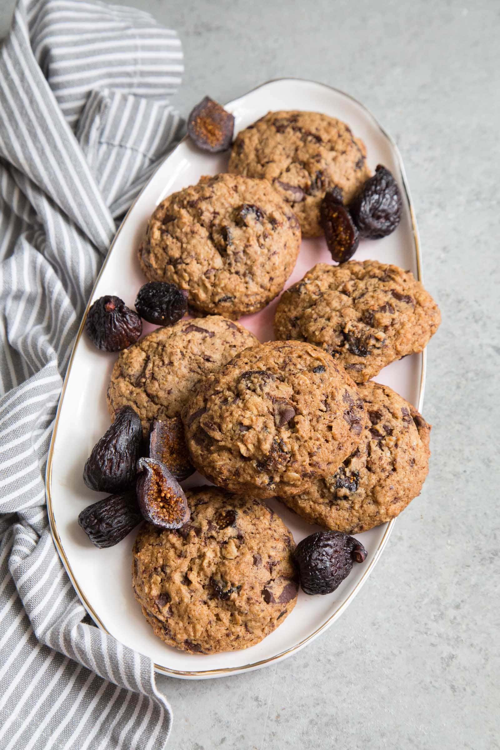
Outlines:
[{"label": "elongated whole black fig just left of the two halved figs", "polygon": [[87,487],[98,492],[117,492],[130,487],[136,478],[141,444],[140,417],[132,407],[123,407],[85,462],[83,481]]}]

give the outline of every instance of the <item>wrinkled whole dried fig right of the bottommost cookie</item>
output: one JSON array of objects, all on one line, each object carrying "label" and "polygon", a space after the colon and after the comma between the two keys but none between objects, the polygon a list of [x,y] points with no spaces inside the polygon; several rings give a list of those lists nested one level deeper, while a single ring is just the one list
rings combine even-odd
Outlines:
[{"label": "wrinkled whole dried fig right of the bottommost cookie", "polygon": [[352,571],[353,562],[367,556],[361,541],[340,531],[318,531],[295,547],[302,590],[306,594],[330,594]]}]

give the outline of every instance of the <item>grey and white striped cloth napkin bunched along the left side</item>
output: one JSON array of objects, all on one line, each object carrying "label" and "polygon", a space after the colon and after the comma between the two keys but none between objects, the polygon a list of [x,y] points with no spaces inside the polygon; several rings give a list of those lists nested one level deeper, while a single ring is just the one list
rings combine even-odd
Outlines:
[{"label": "grey and white striped cloth napkin bunched along the left side", "polygon": [[117,223],[178,138],[181,43],[147,13],[19,0],[0,49],[0,747],[159,748],[151,661],[95,627],[50,535],[59,392]]}]

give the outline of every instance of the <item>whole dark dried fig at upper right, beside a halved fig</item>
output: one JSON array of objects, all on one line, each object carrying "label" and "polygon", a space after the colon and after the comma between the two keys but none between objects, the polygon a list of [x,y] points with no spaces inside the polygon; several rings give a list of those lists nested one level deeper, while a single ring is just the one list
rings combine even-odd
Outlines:
[{"label": "whole dark dried fig at upper right, beside a halved fig", "polygon": [[403,201],[391,172],[379,164],[349,208],[361,237],[381,239],[394,232],[401,220]]}]

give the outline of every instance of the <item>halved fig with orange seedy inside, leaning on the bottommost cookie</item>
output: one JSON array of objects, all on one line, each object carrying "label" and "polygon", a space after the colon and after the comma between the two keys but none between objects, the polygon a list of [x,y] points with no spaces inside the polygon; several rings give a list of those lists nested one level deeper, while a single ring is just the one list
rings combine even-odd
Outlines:
[{"label": "halved fig with orange seedy inside, leaning on the bottommost cookie", "polygon": [[136,495],[142,515],[162,529],[180,529],[190,519],[181,485],[164,463],[153,458],[137,461]]}]

